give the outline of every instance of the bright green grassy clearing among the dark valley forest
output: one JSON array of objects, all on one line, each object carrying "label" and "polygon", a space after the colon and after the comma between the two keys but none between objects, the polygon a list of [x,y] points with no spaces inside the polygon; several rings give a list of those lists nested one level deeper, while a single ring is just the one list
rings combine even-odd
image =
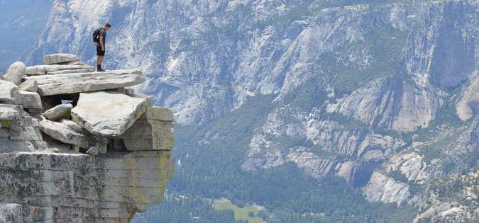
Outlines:
[{"label": "bright green grassy clearing among the dark valley forest", "polygon": [[[234,219],[236,221],[238,220],[247,220],[250,223],[255,223],[255,222],[265,222],[263,219],[260,217],[257,217],[258,215],[258,209],[255,207],[251,207],[246,205],[243,208],[240,208],[236,205],[233,205],[231,201],[229,201],[226,198],[221,198],[221,199],[216,199],[214,200],[214,209],[216,210],[233,210],[234,211]],[[255,217],[249,217],[248,213],[253,212],[255,214]]]}]

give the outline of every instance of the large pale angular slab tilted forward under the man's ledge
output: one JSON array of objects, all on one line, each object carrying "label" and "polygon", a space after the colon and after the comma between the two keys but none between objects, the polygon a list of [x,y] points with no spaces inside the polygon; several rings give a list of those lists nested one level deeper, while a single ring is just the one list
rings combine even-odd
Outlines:
[{"label": "large pale angular slab tilted forward under the man's ledge", "polygon": [[72,120],[94,135],[122,135],[146,110],[144,98],[133,98],[117,91],[80,93]]}]

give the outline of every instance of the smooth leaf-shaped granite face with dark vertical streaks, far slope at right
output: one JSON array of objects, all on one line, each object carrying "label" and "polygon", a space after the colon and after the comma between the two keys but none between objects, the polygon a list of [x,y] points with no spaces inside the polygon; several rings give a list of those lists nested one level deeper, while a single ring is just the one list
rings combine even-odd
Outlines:
[{"label": "smooth leaf-shaped granite face with dark vertical streaks, far slope at right", "polygon": [[364,88],[328,106],[328,111],[343,113],[373,128],[413,131],[427,127],[441,100],[431,86],[417,88],[400,78],[373,81]]}]

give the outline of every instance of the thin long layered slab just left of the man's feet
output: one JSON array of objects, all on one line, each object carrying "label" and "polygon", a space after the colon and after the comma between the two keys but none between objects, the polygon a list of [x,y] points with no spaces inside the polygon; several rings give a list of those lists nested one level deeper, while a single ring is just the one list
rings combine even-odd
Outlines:
[{"label": "thin long layered slab just left of the man's feet", "polygon": [[27,67],[25,75],[85,73],[94,71],[95,67],[88,65],[53,64]]}]

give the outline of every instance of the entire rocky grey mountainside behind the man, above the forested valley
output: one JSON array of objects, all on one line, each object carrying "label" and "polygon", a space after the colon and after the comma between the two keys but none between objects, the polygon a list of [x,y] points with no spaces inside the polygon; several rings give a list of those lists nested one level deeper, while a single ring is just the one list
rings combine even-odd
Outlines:
[{"label": "entire rocky grey mountainside behind the man, above the forested valley", "polygon": [[471,219],[477,206],[444,205],[434,185],[477,168],[478,12],[473,0],[55,1],[23,59],[70,52],[94,64],[89,36],[110,22],[104,67],[143,69],[138,90],[182,125],[274,96],[243,171],[294,162],[371,201],[409,202],[417,220],[466,207]]}]

